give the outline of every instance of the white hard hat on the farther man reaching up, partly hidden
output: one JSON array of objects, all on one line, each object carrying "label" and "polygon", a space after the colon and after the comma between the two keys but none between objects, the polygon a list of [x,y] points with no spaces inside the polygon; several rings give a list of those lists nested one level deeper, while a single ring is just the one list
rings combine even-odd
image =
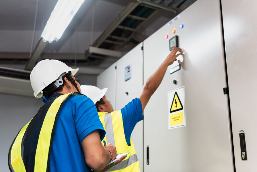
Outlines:
[{"label": "white hard hat on the farther man reaching up, partly hidden", "polygon": [[93,85],[80,85],[81,93],[90,98],[94,104],[104,97],[108,88],[99,89]]}]

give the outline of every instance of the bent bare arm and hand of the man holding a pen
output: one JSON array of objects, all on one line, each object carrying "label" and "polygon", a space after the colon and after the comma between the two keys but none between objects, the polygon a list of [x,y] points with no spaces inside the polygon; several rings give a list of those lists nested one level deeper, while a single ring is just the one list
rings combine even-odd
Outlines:
[{"label": "bent bare arm and hand of the man holding a pen", "polygon": [[[103,147],[98,130],[89,133],[81,142],[86,164],[95,171],[100,171],[116,158],[116,147],[111,143]],[[113,156],[110,155],[109,151]]]}]

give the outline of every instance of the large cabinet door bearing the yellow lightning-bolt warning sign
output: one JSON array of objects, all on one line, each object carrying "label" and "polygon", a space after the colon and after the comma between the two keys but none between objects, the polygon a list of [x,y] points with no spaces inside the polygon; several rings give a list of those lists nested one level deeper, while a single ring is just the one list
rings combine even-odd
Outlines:
[{"label": "large cabinet door bearing the yellow lightning-bolt warning sign", "polygon": [[[175,73],[168,67],[144,110],[144,171],[233,171],[219,1],[196,1],[144,41],[144,82],[170,53],[175,35],[184,61]],[[168,129],[168,92],[183,86],[186,123]]]}]

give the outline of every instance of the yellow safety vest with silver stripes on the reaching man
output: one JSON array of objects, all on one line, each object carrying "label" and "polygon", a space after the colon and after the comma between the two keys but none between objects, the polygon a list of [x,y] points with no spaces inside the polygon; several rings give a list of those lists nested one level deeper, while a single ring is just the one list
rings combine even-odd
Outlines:
[{"label": "yellow safety vest with silver stripes on the reaching man", "polygon": [[[134,144],[130,139],[130,146],[128,146],[125,139],[121,111],[113,111],[112,113],[98,112],[98,115],[106,131],[106,135],[104,137],[106,143],[112,143],[116,147],[117,153],[130,152],[122,162],[113,166],[108,171],[139,172],[139,161],[136,156]],[[103,141],[102,144],[104,145]]]}]

